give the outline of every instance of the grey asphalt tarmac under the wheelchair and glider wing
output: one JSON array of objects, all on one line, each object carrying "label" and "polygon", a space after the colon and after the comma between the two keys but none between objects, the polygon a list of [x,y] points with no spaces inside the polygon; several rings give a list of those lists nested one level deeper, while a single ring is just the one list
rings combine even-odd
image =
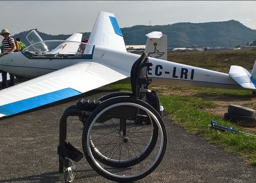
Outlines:
[{"label": "grey asphalt tarmac under the wheelchair and glider wing", "polygon": [[[80,97],[98,99],[109,92],[101,88],[90,92],[90,96]],[[1,183],[65,182],[58,172],[59,120],[76,100],[0,121]],[[188,134],[172,121],[164,122],[168,135],[165,156],[157,169],[138,183],[256,182],[256,167],[246,165],[239,156],[226,153],[197,135]],[[81,152],[82,131],[77,117],[69,117],[67,140]],[[76,165],[74,183],[112,182],[97,174],[85,158]]]}]

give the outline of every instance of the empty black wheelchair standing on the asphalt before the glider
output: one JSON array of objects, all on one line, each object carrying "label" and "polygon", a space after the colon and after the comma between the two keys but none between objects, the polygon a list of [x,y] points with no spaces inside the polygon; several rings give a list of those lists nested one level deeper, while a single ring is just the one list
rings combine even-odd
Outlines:
[{"label": "empty black wheelchair standing on the asphalt before the glider", "polygon": [[[83,156],[97,173],[116,182],[142,179],[160,164],[167,133],[158,96],[148,90],[150,65],[145,53],[134,62],[132,92],[113,92],[97,100],[80,98],[64,111],[57,153],[59,172],[66,182],[74,180],[73,161]],[[68,116],[78,116],[83,123],[83,153],[66,139]]]}]

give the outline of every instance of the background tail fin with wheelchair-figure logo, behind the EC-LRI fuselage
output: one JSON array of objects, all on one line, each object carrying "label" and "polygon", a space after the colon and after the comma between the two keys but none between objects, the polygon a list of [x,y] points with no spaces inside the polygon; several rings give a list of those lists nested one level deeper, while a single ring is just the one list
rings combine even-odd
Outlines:
[{"label": "background tail fin with wheelchair-figure logo, behind the EC-LRI fuselage", "polygon": [[145,53],[149,57],[167,60],[167,35],[159,31],[153,31],[146,34],[147,43]]}]

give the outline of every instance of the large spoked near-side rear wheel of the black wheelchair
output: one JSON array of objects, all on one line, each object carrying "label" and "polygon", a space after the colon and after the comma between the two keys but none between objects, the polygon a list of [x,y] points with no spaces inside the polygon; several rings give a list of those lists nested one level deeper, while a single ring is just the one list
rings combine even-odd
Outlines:
[{"label": "large spoked near-side rear wheel of the black wheelchair", "polygon": [[96,172],[112,181],[130,182],[147,176],[160,164],[167,135],[153,107],[124,96],[106,100],[91,113],[82,145]]}]

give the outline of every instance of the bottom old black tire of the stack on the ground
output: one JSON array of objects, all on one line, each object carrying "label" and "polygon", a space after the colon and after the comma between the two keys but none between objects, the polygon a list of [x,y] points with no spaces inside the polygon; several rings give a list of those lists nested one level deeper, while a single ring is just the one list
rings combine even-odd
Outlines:
[{"label": "bottom old black tire of the stack on the ground", "polygon": [[224,119],[242,127],[256,127],[256,117],[253,116],[239,116],[226,112]]}]

